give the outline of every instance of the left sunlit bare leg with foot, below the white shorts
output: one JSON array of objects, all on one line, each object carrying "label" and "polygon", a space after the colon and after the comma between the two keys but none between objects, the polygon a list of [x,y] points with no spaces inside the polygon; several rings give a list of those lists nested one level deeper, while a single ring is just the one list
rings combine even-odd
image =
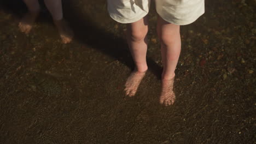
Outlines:
[{"label": "left sunlit bare leg with foot, below the white shorts", "polygon": [[127,41],[133,61],[135,62],[135,70],[128,77],[125,84],[126,94],[130,97],[135,95],[139,83],[141,83],[141,80],[148,69],[146,62],[147,32],[147,16],[139,21],[127,24]]}]

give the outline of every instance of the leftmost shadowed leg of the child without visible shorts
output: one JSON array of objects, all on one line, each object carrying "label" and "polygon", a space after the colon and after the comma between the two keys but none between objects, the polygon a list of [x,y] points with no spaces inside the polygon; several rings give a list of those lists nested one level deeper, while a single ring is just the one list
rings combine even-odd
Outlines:
[{"label": "leftmost shadowed leg of the child without visible shorts", "polygon": [[27,5],[28,13],[22,17],[19,27],[21,32],[28,34],[39,14],[40,6],[38,0],[24,0],[24,2]]}]

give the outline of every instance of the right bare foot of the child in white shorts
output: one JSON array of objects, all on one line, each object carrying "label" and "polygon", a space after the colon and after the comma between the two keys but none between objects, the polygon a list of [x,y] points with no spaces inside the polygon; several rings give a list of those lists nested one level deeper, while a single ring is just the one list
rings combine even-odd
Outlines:
[{"label": "right bare foot of the child in white shorts", "polygon": [[175,101],[175,94],[173,92],[174,76],[170,80],[162,80],[160,104],[164,104],[165,106],[172,105]]}]

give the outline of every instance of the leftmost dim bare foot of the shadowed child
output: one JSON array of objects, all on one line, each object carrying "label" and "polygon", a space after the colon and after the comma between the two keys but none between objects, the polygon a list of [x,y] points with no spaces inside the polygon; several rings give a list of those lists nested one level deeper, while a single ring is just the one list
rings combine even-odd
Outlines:
[{"label": "leftmost dim bare foot of the shadowed child", "polygon": [[22,17],[20,23],[19,23],[19,28],[20,31],[23,33],[30,33],[32,25],[34,23],[34,21],[36,21],[37,16],[38,16],[39,12],[28,12],[27,14],[25,14],[24,17]]}]

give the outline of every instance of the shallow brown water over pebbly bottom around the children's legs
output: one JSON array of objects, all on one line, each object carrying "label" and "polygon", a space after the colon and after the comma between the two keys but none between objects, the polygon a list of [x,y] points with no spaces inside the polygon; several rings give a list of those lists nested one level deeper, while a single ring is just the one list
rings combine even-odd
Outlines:
[{"label": "shallow brown water over pebbly bottom around the children's legs", "polygon": [[66,45],[45,8],[25,35],[25,5],[1,2],[0,143],[255,143],[255,6],[206,1],[206,13],[181,27],[177,98],[164,107],[154,4],[149,71],[126,98],[125,26],[105,1],[63,1],[75,33]]}]

